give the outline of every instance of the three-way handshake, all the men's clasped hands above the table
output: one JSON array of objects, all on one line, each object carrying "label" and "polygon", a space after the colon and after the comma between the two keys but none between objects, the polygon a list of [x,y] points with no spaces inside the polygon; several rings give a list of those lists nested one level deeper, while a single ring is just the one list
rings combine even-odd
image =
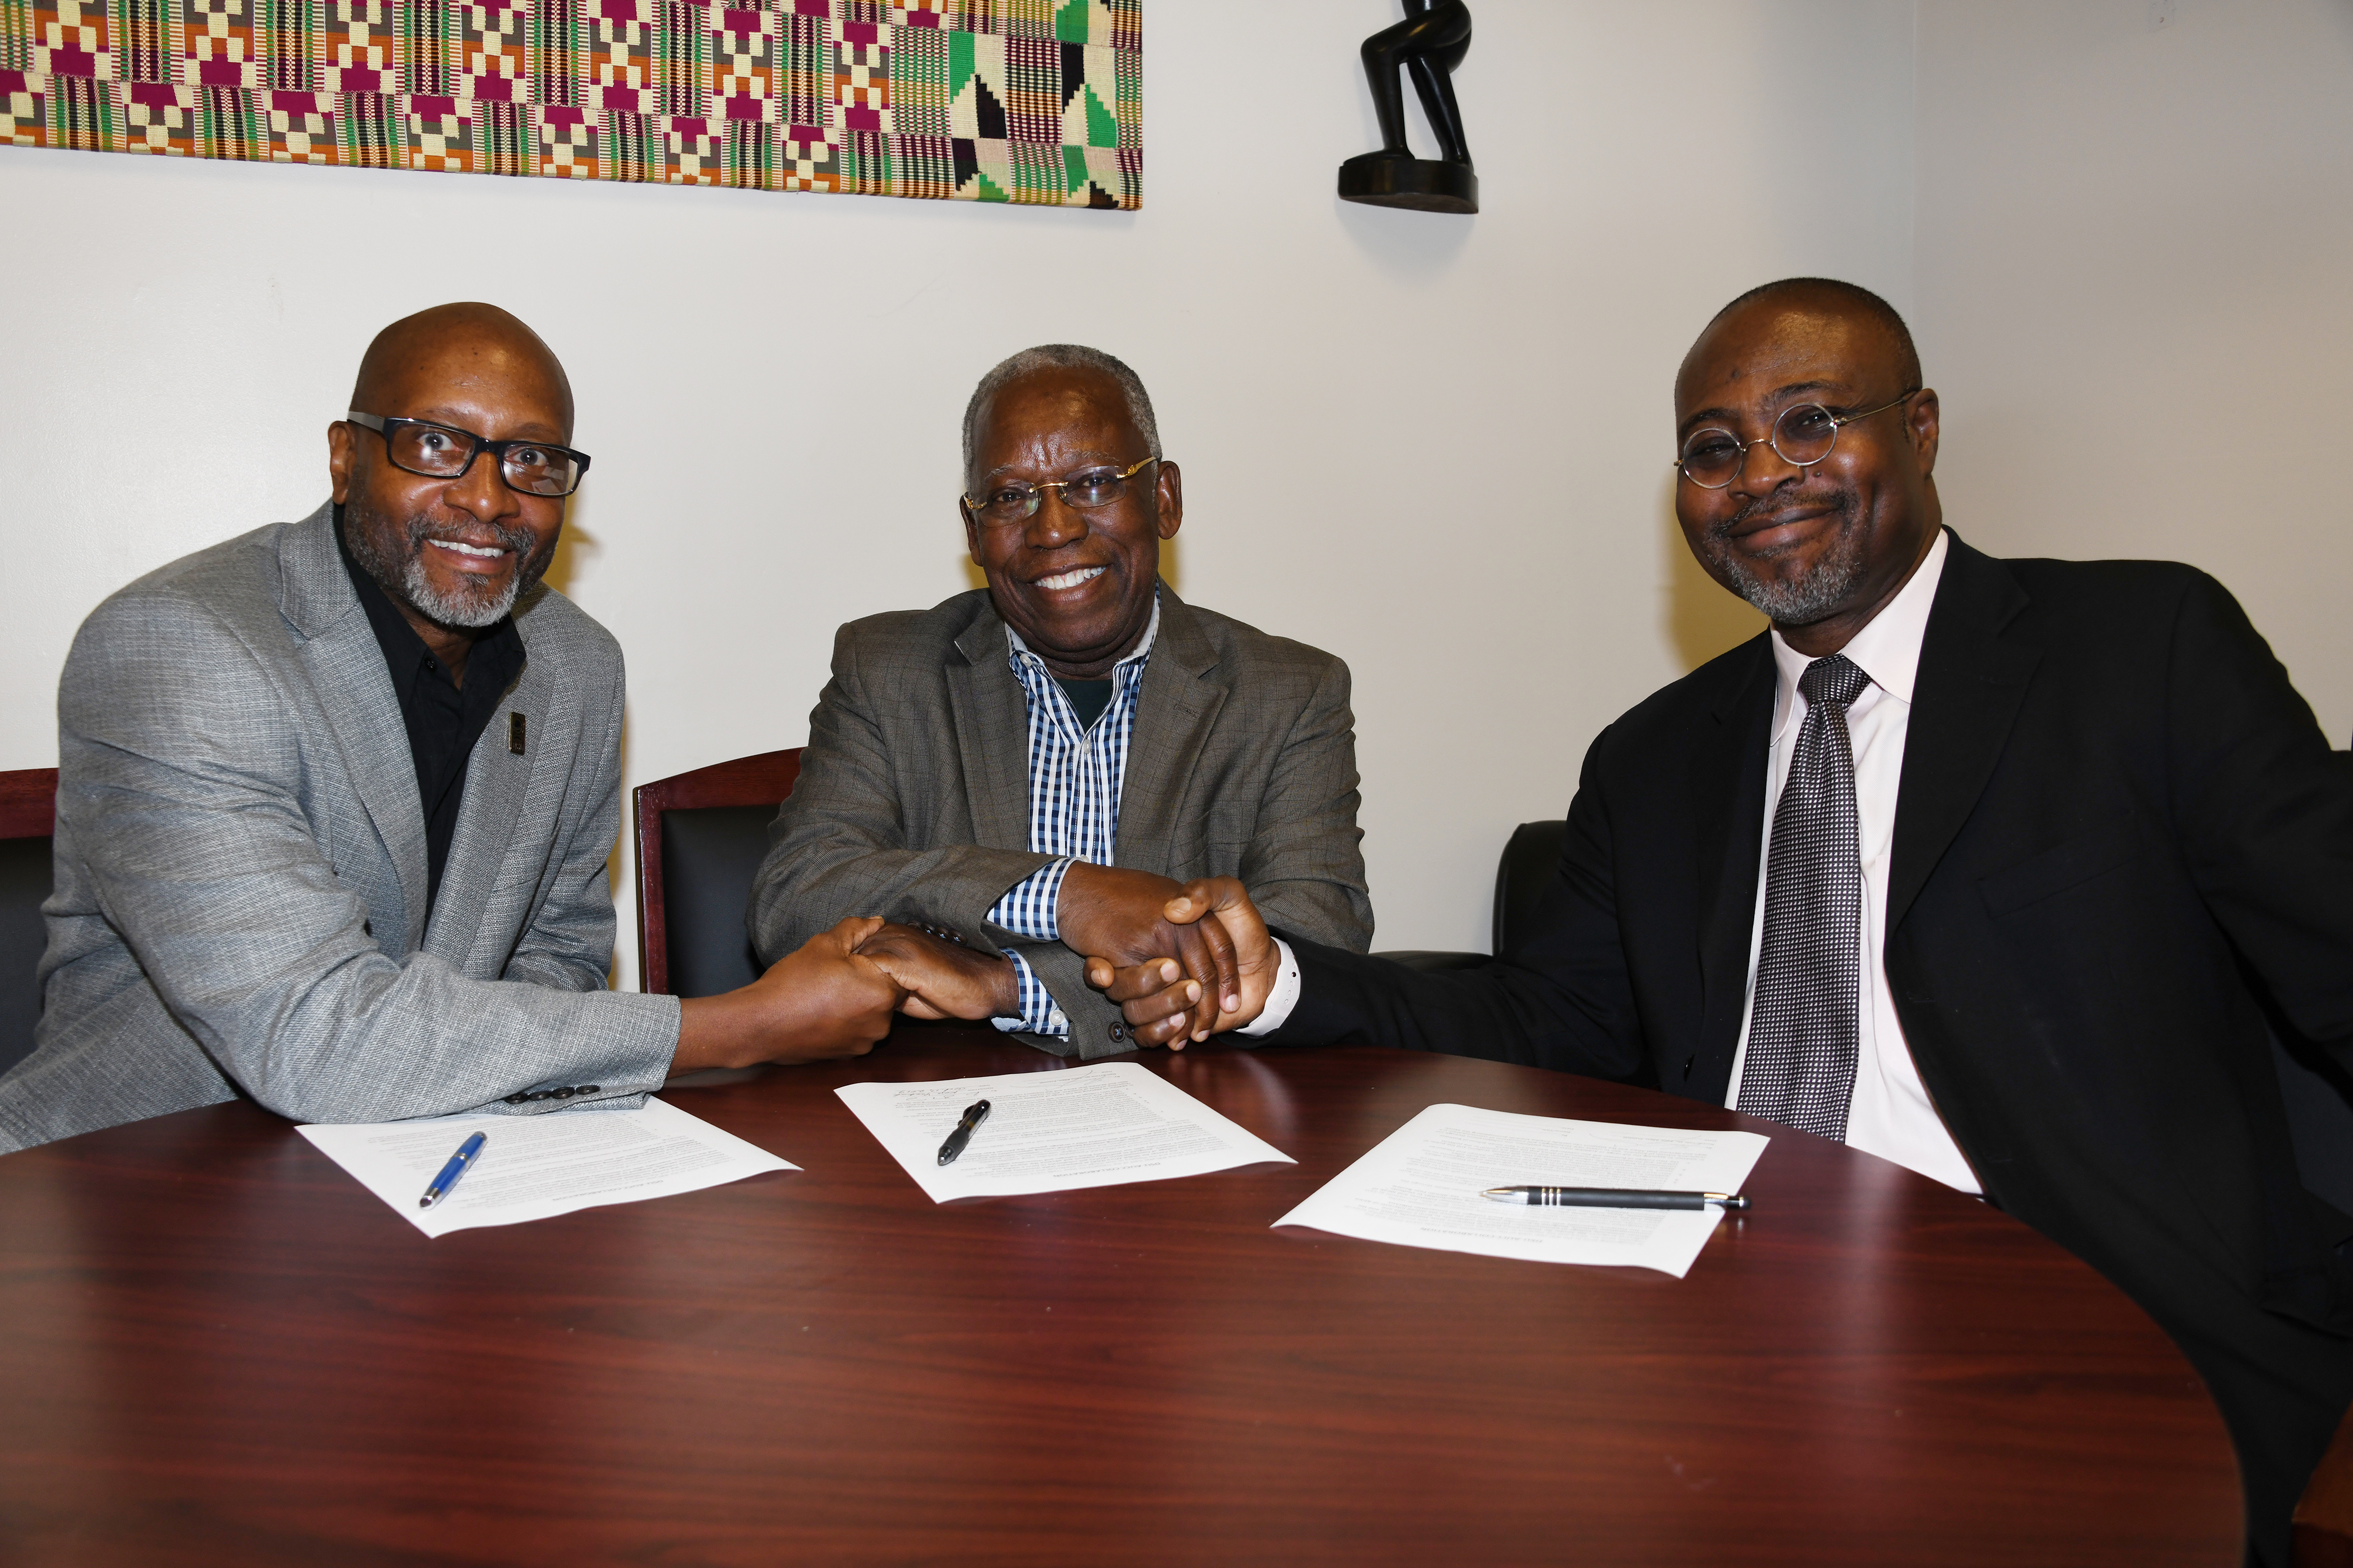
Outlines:
[{"label": "three-way handshake, all the men's clasped hands above the table", "polygon": [[[1120,1004],[1139,1046],[1252,1023],[1275,983],[1275,943],[1233,877],[1174,882],[1075,863],[1056,905],[1061,940],[1087,959],[1087,985]],[[1019,1018],[1014,964],[955,936],[856,917],[809,938],[725,997],[680,1004],[671,1072],[864,1056],[892,1016]]]}]

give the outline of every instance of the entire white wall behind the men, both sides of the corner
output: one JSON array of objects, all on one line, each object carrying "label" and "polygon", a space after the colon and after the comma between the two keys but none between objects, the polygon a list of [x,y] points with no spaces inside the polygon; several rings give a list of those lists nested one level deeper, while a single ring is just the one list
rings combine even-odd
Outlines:
[{"label": "entire white wall behind the men, both sides of the corner", "polygon": [[1480,947],[1511,823],[1755,625],[1673,534],[1668,378],[1798,270],[1913,315],[1965,536],[2217,571],[2353,733],[2344,0],[1485,0],[1471,221],[1332,197],[1388,14],[1158,0],[1139,214],[0,148],[0,766],[54,762],[99,597],[320,498],[424,303],[572,367],[558,571],[631,654],[633,783],[798,743],[838,621],[965,588],[965,393],[1082,339],[1186,465],[1179,588],[1358,672],[1379,940]]}]

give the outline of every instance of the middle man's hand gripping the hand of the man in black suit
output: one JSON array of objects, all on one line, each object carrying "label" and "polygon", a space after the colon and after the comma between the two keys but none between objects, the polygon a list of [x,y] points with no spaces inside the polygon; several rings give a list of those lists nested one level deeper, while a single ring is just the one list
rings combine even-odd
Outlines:
[{"label": "middle man's hand gripping the hand of the man in black suit", "polygon": [[[1155,1039],[1139,1044],[1184,1048],[1188,1037],[1207,1039],[1217,1030],[1224,1006],[1240,1006],[1242,976],[1224,924],[1200,919],[1198,910],[1188,919],[1167,914],[1184,891],[1169,877],[1085,860],[1061,879],[1054,919],[1061,945],[1087,957],[1089,985],[1099,961],[1113,971],[1136,971],[1134,985],[1158,983],[1151,992],[1160,1004],[1155,1020],[1188,1016],[1186,1027],[1169,1023]],[[1153,959],[1174,961],[1174,973]]]}]

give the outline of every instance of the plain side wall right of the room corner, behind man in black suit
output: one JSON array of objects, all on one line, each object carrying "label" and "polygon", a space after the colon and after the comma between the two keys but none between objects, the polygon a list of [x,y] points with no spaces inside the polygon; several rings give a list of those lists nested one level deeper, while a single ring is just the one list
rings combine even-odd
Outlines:
[{"label": "plain side wall right of the room corner, behind man in black suit", "polygon": [[2205,567],[2337,745],[2348,106],[2346,0],[1920,5],[1913,324],[1946,520],[1998,555]]}]

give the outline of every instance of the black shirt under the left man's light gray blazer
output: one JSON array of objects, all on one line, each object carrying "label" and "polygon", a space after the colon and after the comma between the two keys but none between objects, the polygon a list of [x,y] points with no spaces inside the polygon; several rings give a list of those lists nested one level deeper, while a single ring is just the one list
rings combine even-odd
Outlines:
[{"label": "black shirt under the left man's light gray blazer", "polygon": [[360,609],[376,628],[384,665],[393,675],[393,696],[400,698],[400,717],[409,726],[416,799],[426,813],[426,919],[431,919],[433,900],[440,896],[440,875],[449,863],[449,839],[456,837],[456,809],[466,799],[466,762],[506,689],[522,675],[522,635],[515,632],[513,616],[501,616],[496,625],[480,632],[473,654],[466,656],[466,686],[459,689],[449,679],[449,668],[433,656],[426,639],[376,585],[376,578],[351,559],[351,550],[344,545],[341,508],[334,512],[334,543],[344,552],[344,571],[351,574],[351,588],[360,595]]}]

